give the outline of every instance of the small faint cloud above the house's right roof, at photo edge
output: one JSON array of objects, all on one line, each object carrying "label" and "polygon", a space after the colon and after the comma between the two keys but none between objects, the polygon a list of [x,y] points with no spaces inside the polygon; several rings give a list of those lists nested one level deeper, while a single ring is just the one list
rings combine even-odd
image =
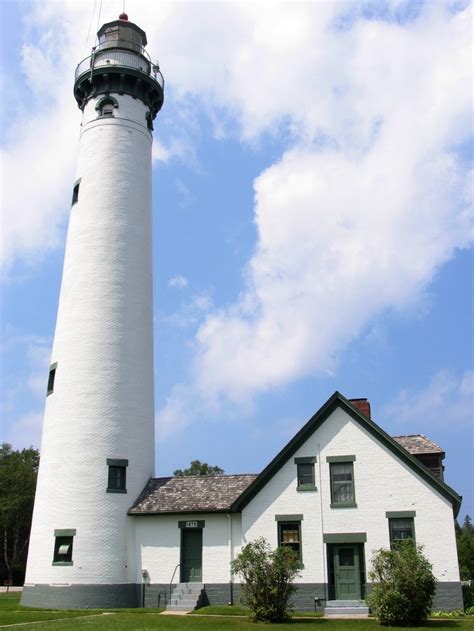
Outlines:
[{"label": "small faint cloud above the house's right roof, at photo edge", "polygon": [[474,372],[438,372],[423,390],[402,390],[382,411],[399,427],[465,426],[472,429]]}]

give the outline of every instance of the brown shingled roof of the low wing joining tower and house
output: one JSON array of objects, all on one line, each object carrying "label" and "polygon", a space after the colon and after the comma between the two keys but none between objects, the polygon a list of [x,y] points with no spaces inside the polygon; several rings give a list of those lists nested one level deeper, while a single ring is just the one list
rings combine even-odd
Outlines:
[{"label": "brown shingled roof of the low wing joining tower and house", "polygon": [[226,512],[257,476],[151,478],[129,515]]}]

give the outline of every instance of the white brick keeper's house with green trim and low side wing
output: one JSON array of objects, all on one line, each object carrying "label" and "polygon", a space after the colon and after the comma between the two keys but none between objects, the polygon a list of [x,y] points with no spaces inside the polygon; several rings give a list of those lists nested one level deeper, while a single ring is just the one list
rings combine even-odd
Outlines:
[{"label": "white brick keeper's house with green trim and low side wing", "polygon": [[336,392],[259,475],[151,479],[129,510],[144,603],[238,602],[230,562],[263,536],[300,557],[297,609],[364,607],[373,552],[401,539],[424,546],[434,608],[461,608],[461,497],[443,482],[443,458],[424,436],[386,434],[366,399]]}]

